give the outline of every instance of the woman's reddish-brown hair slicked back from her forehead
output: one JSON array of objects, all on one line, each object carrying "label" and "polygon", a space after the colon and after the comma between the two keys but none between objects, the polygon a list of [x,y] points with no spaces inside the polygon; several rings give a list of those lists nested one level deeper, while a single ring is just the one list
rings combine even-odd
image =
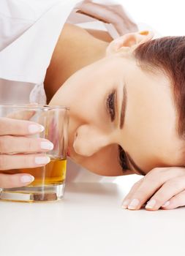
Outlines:
[{"label": "woman's reddish-brown hair slicked back from her forehead", "polygon": [[176,111],[178,135],[185,136],[185,37],[153,39],[135,50],[140,67],[157,69],[170,78]]}]

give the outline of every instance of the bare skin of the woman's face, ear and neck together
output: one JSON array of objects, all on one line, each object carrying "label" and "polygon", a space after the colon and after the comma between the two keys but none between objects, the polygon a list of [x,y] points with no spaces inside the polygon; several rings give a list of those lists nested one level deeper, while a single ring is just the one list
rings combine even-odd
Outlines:
[{"label": "bare skin of the woman's face, ear and neck together", "polygon": [[[138,67],[132,54],[152,35],[127,34],[107,44],[75,29],[70,26],[67,32],[62,31],[45,78],[48,98],[55,94],[50,104],[70,108],[72,160],[104,176],[138,173],[131,162],[131,170],[123,173],[118,161],[120,145],[143,173],[154,167],[183,165],[183,142],[176,132],[170,80],[163,73]],[[120,129],[124,86],[127,109]],[[113,90],[116,118],[111,121],[106,99]],[[82,99],[82,95],[86,97]]]}]

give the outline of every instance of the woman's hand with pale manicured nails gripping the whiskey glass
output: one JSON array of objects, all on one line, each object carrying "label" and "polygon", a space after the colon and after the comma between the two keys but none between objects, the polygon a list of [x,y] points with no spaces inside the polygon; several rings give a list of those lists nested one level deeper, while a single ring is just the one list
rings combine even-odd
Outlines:
[{"label": "woman's hand with pale manicured nails gripping the whiskey glass", "polygon": [[[16,118],[16,117],[15,117]],[[6,170],[46,165],[50,158],[44,153],[53,148],[50,141],[29,138],[42,132],[44,127],[33,121],[14,118],[0,118],[0,187],[22,187],[31,183],[34,177],[26,173],[6,174]],[[29,154],[23,154],[29,153]]]}]

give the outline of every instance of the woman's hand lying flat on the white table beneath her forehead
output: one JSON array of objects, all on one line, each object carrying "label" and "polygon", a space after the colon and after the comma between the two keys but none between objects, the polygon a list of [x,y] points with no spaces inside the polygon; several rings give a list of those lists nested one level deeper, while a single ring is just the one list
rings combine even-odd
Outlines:
[{"label": "woman's hand lying flat on the white table beneath her forehead", "polygon": [[135,183],[122,208],[139,210],[146,202],[146,210],[150,211],[185,206],[184,167],[154,168]]}]

